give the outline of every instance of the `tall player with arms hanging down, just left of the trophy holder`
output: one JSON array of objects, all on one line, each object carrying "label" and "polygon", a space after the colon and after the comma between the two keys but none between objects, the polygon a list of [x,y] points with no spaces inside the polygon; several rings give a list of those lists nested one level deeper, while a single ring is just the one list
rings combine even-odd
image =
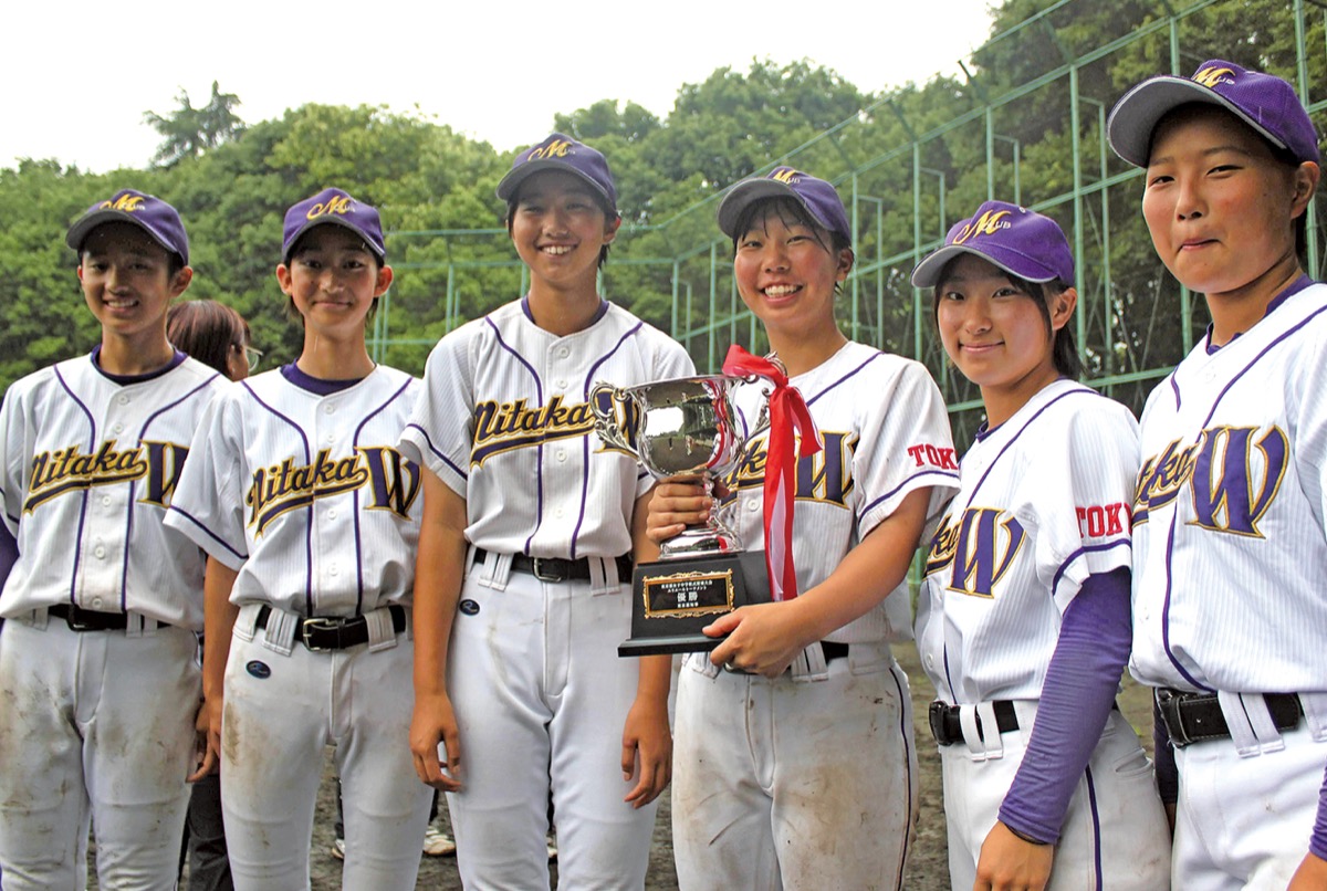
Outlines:
[{"label": "tall player with arms hanging down, just left of the trophy holder", "polygon": [[438,343],[402,440],[425,468],[415,768],[449,793],[467,888],[548,886],[549,789],[559,884],[640,888],[670,773],[671,660],[617,646],[653,481],[605,451],[588,399],[694,370],[598,296],[621,223],[598,151],[552,134],[498,198],[529,292]]}]

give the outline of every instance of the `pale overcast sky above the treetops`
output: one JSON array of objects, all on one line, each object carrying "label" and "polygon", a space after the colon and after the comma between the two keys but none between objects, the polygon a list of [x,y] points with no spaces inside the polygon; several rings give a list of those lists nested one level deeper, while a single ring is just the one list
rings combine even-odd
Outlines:
[{"label": "pale overcast sky above the treetops", "polygon": [[873,93],[958,76],[989,1],[16,0],[0,167],[145,167],[159,137],[143,113],[169,114],[180,89],[204,105],[214,80],[249,123],[307,102],[418,106],[499,150],[605,98],[666,117],[682,84],[752,58],[807,58]]}]

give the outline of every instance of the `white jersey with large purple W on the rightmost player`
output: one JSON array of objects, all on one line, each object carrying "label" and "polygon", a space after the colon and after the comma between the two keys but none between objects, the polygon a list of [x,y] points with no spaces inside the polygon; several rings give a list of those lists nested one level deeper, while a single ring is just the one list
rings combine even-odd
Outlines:
[{"label": "white jersey with large purple W on the rightmost player", "polygon": [[1285,298],[1152,395],[1133,505],[1133,675],[1327,691],[1327,285]]}]

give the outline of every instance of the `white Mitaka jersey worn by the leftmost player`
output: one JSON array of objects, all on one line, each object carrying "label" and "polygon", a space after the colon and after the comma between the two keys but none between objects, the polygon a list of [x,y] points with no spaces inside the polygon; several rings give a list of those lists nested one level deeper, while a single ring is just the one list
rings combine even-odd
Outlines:
[{"label": "white Mitaka jersey worn by the leftmost player", "polygon": [[162,518],[199,419],[228,385],[182,353],[123,381],[84,355],[5,394],[0,488],[20,556],[0,615],[69,603],[203,627],[202,554]]}]

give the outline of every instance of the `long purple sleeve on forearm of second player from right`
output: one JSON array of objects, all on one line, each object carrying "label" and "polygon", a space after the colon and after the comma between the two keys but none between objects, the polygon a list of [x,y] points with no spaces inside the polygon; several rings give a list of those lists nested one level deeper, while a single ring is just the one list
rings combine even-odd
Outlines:
[{"label": "long purple sleeve on forearm of second player from right", "polygon": [[1089,575],[1064,610],[1032,739],[999,809],[1001,822],[1015,833],[1047,845],[1059,841],[1132,642],[1129,570]]}]

